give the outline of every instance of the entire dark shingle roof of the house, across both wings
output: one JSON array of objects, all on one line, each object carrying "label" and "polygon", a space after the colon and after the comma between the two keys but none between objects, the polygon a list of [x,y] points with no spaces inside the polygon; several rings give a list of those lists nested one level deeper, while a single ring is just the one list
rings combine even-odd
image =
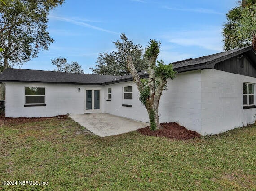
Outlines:
[{"label": "entire dark shingle roof of the house, across both wings", "polygon": [[[195,69],[214,68],[216,63],[242,53],[245,53],[252,59],[252,61],[255,61],[256,63],[256,52],[252,46],[248,46],[195,59],[186,59],[183,61],[174,62],[173,69],[177,72],[185,72]],[[148,73],[146,73],[146,71],[138,72],[138,74],[141,78],[148,77]],[[109,76],[13,68],[8,68],[4,70],[2,74],[0,74],[0,82],[41,82],[106,85],[127,81],[132,81],[132,74],[124,76]]]}]

